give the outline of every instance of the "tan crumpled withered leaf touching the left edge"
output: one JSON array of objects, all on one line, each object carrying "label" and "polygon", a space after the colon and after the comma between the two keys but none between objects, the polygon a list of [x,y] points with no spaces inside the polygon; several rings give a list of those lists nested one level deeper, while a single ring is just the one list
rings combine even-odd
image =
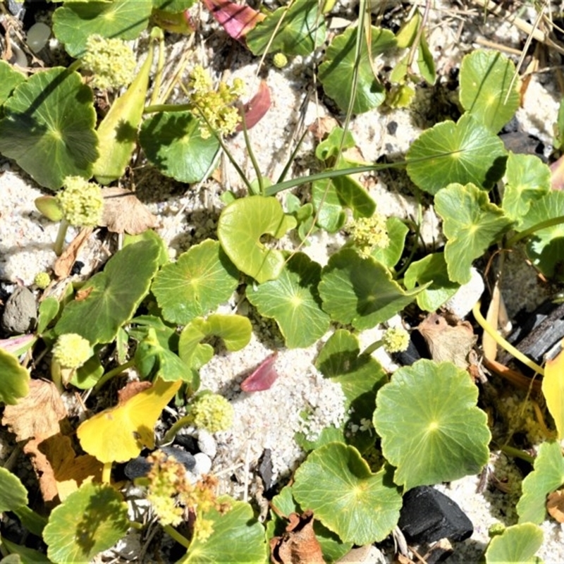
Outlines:
[{"label": "tan crumpled withered leaf touching the left edge", "polygon": [[2,424],[16,434],[16,441],[49,437],[61,432],[66,407],[53,382],[31,380],[30,393],[16,405],[4,407]]}]

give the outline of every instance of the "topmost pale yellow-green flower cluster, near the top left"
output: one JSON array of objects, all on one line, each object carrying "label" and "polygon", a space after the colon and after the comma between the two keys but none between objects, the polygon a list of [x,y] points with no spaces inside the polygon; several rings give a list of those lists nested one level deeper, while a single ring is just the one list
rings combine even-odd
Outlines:
[{"label": "topmost pale yellow-green flower cluster, near the top left", "polygon": [[135,78],[135,55],[121,39],[90,35],[86,51],[82,57],[82,68],[94,75],[94,87],[102,90],[121,88]]}]

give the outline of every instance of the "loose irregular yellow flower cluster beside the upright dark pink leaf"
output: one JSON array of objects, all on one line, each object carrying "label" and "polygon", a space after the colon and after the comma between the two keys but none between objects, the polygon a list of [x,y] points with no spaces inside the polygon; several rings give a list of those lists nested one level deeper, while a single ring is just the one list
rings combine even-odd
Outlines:
[{"label": "loose irregular yellow flower cluster beside the upright dark pink leaf", "polygon": [[[229,135],[235,131],[241,118],[233,103],[245,93],[245,84],[240,78],[233,80],[228,86],[220,82],[217,90],[213,90],[212,78],[202,67],[196,66],[192,71],[188,86],[192,90],[190,100],[202,112],[207,125],[202,125],[200,135],[207,139],[212,131],[219,135]],[[211,130],[210,130],[211,129]]]}]

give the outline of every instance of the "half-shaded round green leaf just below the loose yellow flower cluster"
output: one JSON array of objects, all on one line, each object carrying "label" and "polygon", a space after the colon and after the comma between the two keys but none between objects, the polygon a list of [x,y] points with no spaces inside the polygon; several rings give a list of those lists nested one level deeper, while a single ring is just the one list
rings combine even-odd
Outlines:
[{"label": "half-shaded round green leaf just below the loose yellow flower cluster", "polygon": [[143,122],[139,141],[161,173],[180,182],[200,182],[219,149],[213,135],[202,138],[201,125],[190,111],[164,111]]}]

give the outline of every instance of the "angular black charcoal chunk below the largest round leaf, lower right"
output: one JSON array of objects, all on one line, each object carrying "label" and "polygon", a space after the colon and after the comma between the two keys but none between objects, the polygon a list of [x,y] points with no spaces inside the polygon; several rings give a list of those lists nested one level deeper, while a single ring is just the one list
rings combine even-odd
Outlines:
[{"label": "angular black charcoal chunk below the largest round leaf, lower right", "polygon": [[408,542],[431,543],[439,539],[463,541],[472,536],[472,521],[445,494],[418,486],[403,496],[398,527]]}]

